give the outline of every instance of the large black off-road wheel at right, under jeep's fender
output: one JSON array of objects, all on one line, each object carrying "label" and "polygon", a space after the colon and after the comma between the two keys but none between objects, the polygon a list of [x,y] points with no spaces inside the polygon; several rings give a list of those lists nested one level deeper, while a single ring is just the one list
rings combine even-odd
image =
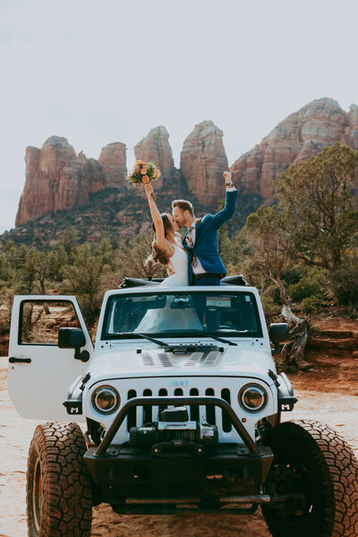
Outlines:
[{"label": "large black off-road wheel at right, under jeep's fender", "polygon": [[335,430],[319,422],[284,422],[265,444],[275,458],[262,514],[274,537],[356,537],[358,462]]}]

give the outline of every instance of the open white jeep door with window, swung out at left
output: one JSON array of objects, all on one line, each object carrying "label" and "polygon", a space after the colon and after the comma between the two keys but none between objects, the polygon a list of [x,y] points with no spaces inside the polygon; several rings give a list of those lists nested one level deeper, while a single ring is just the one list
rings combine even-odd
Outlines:
[{"label": "open white jeep door with window, swung out at left", "polygon": [[[73,349],[57,345],[58,328],[81,328],[93,354],[90,334],[74,296],[23,295],[13,300],[10,328],[8,389],[13,405],[24,418],[73,421],[64,408],[67,390],[85,375],[90,362],[74,358]],[[76,422],[84,421],[76,416]]]}]

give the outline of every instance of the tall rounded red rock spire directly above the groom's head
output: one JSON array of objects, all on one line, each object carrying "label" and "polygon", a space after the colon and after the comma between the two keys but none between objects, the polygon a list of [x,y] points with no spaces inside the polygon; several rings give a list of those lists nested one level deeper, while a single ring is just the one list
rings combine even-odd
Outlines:
[{"label": "tall rounded red rock spire directly above the groom's head", "polygon": [[223,132],[212,121],[195,125],[183,143],[180,169],[189,192],[200,203],[211,204],[224,195],[227,169]]}]

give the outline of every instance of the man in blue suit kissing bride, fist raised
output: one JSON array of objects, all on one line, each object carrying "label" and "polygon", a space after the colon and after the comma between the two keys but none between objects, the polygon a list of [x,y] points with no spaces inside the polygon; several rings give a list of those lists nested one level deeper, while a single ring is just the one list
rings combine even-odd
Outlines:
[{"label": "man in blue suit kissing bride, fist raised", "polygon": [[237,191],[231,181],[231,173],[225,172],[226,203],[216,215],[196,218],[192,203],[174,200],[173,217],[179,227],[188,227],[183,238],[183,247],[189,254],[189,284],[191,286],[219,286],[226,276],[226,268],[220,258],[217,245],[217,230],[234,215]]}]

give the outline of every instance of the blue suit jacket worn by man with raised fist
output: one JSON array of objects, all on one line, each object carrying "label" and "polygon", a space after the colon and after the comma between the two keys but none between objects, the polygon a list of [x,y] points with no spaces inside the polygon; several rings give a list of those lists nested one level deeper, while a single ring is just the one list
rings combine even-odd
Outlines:
[{"label": "blue suit jacket worn by man with raised fist", "polygon": [[219,210],[216,215],[206,215],[200,222],[197,222],[193,248],[185,242],[188,232],[185,234],[182,243],[189,254],[188,273],[190,284],[192,284],[192,256],[194,252],[205,272],[226,275],[226,268],[218,253],[217,230],[234,215],[236,198],[237,191],[226,191],[224,209]]}]

